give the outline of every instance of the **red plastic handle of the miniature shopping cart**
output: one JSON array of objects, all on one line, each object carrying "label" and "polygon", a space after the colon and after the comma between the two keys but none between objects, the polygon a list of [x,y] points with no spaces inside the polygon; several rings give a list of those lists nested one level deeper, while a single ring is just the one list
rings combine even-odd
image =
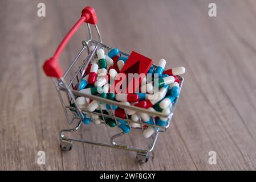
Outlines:
[{"label": "red plastic handle of the miniature shopping cart", "polygon": [[78,28],[83,24],[83,22],[96,24],[97,16],[94,8],[87,6],[83,9],[81,18],[76,22],[76,24],[71,28],[71,30],[64,37],[62,42],[59,44],[59,47],[56,49],[54,56],[46,60],[43,64],[43,71],[47,76],[61,78],[63,76],[62,68],[59,65],[59,56],[62,53],[63,49],[66,47],[67,43],[70,42],[70,39],[78,31]]}]

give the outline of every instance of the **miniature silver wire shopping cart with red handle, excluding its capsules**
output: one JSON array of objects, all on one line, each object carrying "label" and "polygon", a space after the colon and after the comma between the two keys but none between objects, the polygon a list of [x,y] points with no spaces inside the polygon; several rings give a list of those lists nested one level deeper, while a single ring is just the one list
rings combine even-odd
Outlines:
[{"label": "miniature silver wire shopping cart with red handle, excluding its capsules", "polygon": [[[78,55],[76,55],[76,57],[72,61],[71,65],[66,69],[66,72],[63,72],[59,65],[60,53],[63,51],[64,47],[69,42],[71,37],[75,34],[75,32],[78,30],[78,28],[84,22],[87,23],[89,39],[82,42],[82,44],[83,44],[82,49],[79,51]],[[56,49],[55,55],[53,57],[51,57],[50,59],[48,59],[43,65],[44,72],[46,73],[47,76],[51,77],[52,81],[54,82],[54,85],[58,92],[58,96],[59,96],[60,102],[63,106],[64,113],[66,115],[68,123],[70,125],[72,125],[74,123],[74,121],[77,121],[77,123],[78,123],[72,129],[60,131],[60,148],[62,148],[62,150],[64,150],[64,151],[69,151],[72,148],[72,142],[81,142],[81,143],[95,144],[97,146],[119,148],[119,149],[137,152],[137,157],[136,157],[137,160],[140,163],[145,163],[148,161],[149,153],[152,152],[153,148],[155,147],[155,144],[156,144],[157,138],[159,137],[159,134],[161,132],[165,132],[166,129],[169,127],[170,121],[173,116],[174,108],[177,105],[177,99],[173,103],[172,107],[170,108],[170,110],[171,110],[170,114],[165,115],[159,111],[151,111],[148,109],[143,109],[143,108],[132,106],[132,105],[128,106],[121,102],[108,100],[106,98],[102,98],[99,96],[83,94],[83,93],[79,92],[78,90],[74,89],[74,86],[78,82],[80,82],[82,80],[83,76],[85,75],[86,68],[88,67],[88,65],[92,62],[92,60],[95,59],[97,48],[103,48],[105,52],[109,52],[112,49],[112,47],[106,46],[105,44],[102,43],[100,32],[99,32],[99,29],[98,29],[96,23],[97,23],[97,16],[96,16],[95,10],[92,7],[84,8],[82,11],[81,18],[78,20],[78,22],[76,22],[74,27],[71,28],[71,30],[68,32],[66,37],[63,39],[62,43],[60,43],[59,47]],[[94,24],[94,26],[96,28],[96,34],[99,38],[99,41],[92,39],[92,30],[91,30],[90,24]],[[94,46],[95,48],[90,50],[91,46]],[[84,57],[82,56],[83,53],[86,55],[86,59],[84,59]],[[125,53],[123,51],[119,51],[119,54],[120,54],[120,56],[127,56],[127,57],[129,56],[128,53]],[[153,65],[153,66],[156,67],[156,65]],[[75,71],[74,71],[74,69],[75,69]],[[68,75],[71,75],[70,79],[68,79],[68,77],[67,77]],[[178,76],[178,78],[180,80],[180,89],[181,89],[184,79],[181,76]],[[115,105],[120,108],[123,108],[125,111],[125,114],[126,114],[126,118],[124,119],[124,118],[116,117],[112,107],[111,107],[112,115],[105,114],[104,111],[101,110],[101,108],[100,108],[100,112],[96,112],[96,111],[90,112],[87,109],[82,109],[79,107],[78,103],[76,102],[76,98],[78,98],[78,97],[85,97],[85,98],[90,98],[90,100],[96,100],[98,102],[98,104],[105,103],[105,104],[109,104],[111,106]],[[166,123],[165,126],[157,126],[155,124],[154,117],[152,117],[153,124],[147,124],[147,123],[143,122],[141,120],[141,118],[139,118],[139,121],[137,121],[137,123],[139,123],[138,126],[140,126],[140,127],[132,127],[131,125],[129,125],[129,123],[135,122],[135,121],[132,121],[131,118],[128,117],[127,109],[135,110],[137,113],[147,113],[148,115],[151,115],[151,116],[155,115],[156,117],[165,117],[165,118],[168,118],[168,122]],[[111,138],[109,138],[110,143],[95,142],[95,141],[90,141],[90,140],[67,137],[67,135],[66,135],[67,133],[75,132],[76,130],[80,129],[80,127],[83,126],[82,125],[82,123],[83,123],[82,121],[84,119],[83,113],[86,113],[87,115],[91,115],[91,118],[93,115],[101,116],[101,118],[103,118],[101,120],[101,124],[103,124],[107,127],[108,127],[108,125],[106,125],[104,117],[109,117],[109,118],[114,119],[116,122],[116,127],[119,127],[119,125],[117,125],[117,119],[127,121],[127,125],[129,126],[129,128],[131,130],[136,129],[137,131],[139,131],[141,133],[145,130],[145,126],[153,126],[153,127],[155,127],[155,134],[151,138],[149,138],[152,140],[151,146],[149,146],[149,148],[136,148],[136,147],[128,146],[127,144],[117,143],[115,141],[116,138],[121,137],[123,135],[131,134],[131,133],[126,134],[124,132],[117,133],[117,134],[113,135]],[[88,126],[87,125],[84,125],[84,126],[94,127],[93,123],[90,123],[90,125],[88,125]],[[111,130],[110,127],[109,127],[109,130]],[[141,134],[141,137],[143,137],[142,134]]]}]

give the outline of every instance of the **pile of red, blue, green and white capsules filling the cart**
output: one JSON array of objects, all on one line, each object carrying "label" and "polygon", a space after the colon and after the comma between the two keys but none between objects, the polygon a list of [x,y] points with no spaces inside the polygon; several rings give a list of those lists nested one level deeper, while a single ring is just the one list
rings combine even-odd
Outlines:
[{"label": "pile of red, blue, green and white capsules filling the cart", "polygon": [[[95,47],[91,46],[90,51]],[[124,105],[132,105],[142,107],[151,111],[160,111],[166,115],[170,114],[172,104],[179,96],[180,92],[180,80],[177,75],[185,73],[184,67],[165,69],[166,61],[160,59],[157,66],[153,65],[148,71],[148,74],[152,74],[152,80],[147,80],[145,77],[140,84],[141,93],[111,93],[109,92],[109,80],[115,79],[121,69],[124,67],[128,57],[119,56],[119,49],[113,48],[107,54],[105,54],[102,48],[97,48],[95,59],[88,65],[83,79],[75,85],[74,89],[84,94],[93,94],[99,97],[107,98],[109,100],[119,101]],[[157,80],[154,80],[153,74],[157,74]],[[157,88],[157,89],[156,89]],[[157,90],[157,92],[155,91]],[[106,117],[104,118],[97,114],[83,113],[83,123],[88,125],[90,122],[96,124],[105,123],[110,127],[119,128],[124,133],[129,133],[131,127],[141,127],[137,122],[143,121],[153,125],[153,119],[155,118],[155,124],[158,126],[165,126],[168,122],[168,118],[156,117],[155,115],[148,115],[146,113],[139,113],[132,109],[126,109],[117,107],[115,105],[109,105],[100,103],[96,100],[90,100],[85,97],[76,98],[76,102],[81,109],[86,109],[90,112],[97,112],[103,114],[127,119],[131,119],[134,122],[127,122],[122,119],[115,119]],[[99,104],[100,103],[100,104]],[[74,106],[72,104],[71,106]],[[73,110],[74,111],[74,110]],[[104,120],[104,121],[103,121]],[[156,130],[152,126],[143,126],[145,128],[143,135],[149,138]]]}]

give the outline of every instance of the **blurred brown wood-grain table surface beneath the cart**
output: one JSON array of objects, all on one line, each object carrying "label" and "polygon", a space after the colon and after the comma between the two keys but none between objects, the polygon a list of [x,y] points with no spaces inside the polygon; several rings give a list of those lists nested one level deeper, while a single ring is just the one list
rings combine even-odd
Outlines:
[{"label": "blurred brown wood-grain table surface beneath the cart", "polygon": [[[46,17],[37,16],[44,2]],[[208,4],[217,4],[217,17]],[[95,7],[103,42],[136,50],[166,68],[184,66],[185,82],[172,124],[148,163],[135,152],[74,143],[59,148],[70,128],[51,80],[42,72],[60,40]],[[1,170],[256,169],[256,1],[1,1]],[[62,55],[67,67],[87,38],[79,30]],[[109,141],[117,130],[83,126],[74,136]],[[140,135],[124,142],[144,146]],[[46,164],[38,165],[38,151]],[[217,164],[208,163],[209,151]]]}]

